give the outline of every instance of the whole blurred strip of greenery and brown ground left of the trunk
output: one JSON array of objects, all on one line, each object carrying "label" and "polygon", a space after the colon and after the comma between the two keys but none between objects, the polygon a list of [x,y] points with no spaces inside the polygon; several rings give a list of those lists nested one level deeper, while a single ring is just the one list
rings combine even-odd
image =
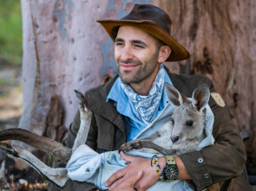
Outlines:
[{"label": "whole blurred strip of greenery and brown ground left of the trunk", "polygon": [[0,0],[0,130],[22,113],[23,23],[20,0]]}]

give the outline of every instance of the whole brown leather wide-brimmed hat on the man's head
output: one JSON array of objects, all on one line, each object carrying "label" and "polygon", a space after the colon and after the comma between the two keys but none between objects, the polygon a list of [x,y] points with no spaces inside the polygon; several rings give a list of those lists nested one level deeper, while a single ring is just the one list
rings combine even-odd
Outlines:
[{"label": "whole brown leather wide-brimmed hat on the man's head", "polygon": [[151,4],[135,4],[133,10],[121,18],[97,20],[100,22],[113,41],[121,26],[132,26],[144,30],[163,41],[172,48],[172,53],[167,61],[185,60],[189,57],[186,48],[183,48],[178,41],[170,35],[172,29],[172,20],[164,10]]}]

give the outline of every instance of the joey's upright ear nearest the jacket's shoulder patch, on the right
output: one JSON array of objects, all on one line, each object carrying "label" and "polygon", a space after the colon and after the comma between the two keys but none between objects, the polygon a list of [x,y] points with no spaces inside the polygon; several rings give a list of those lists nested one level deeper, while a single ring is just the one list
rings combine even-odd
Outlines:
[{"label": "joey's upright ear nearest the jacket's shoulder patch, on the right", "polygon": [[206,84],[203,84],[196,88],[192,96],[192,105],[194,108],[197,108],[198,111],[203,111],[210,99],[209,87]]}]

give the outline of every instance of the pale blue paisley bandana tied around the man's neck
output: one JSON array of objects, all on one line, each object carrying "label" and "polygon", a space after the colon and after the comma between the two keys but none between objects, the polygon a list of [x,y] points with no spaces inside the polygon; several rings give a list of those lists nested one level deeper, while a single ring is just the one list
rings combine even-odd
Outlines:
[{"label": "pale blue paisley bandana tied around the man's neck", "polygon": [[121,80],[121,88],[127,94],[136,117],[141,119],[145,124],[149,124],[158,111],[163,92],[164,77],[165,70],[163,64],[161,64],[148,96],[137,94],[128,84]]}]

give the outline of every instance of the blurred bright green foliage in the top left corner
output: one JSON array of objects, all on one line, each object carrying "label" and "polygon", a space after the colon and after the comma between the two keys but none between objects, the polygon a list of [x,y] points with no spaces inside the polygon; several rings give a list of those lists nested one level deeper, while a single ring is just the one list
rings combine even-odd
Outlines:
[{"label": "blurred bright green foliage in the top left corner", "polygon": [[0,0],[0,59],[21,65],[23,56],[21,1]]}]

